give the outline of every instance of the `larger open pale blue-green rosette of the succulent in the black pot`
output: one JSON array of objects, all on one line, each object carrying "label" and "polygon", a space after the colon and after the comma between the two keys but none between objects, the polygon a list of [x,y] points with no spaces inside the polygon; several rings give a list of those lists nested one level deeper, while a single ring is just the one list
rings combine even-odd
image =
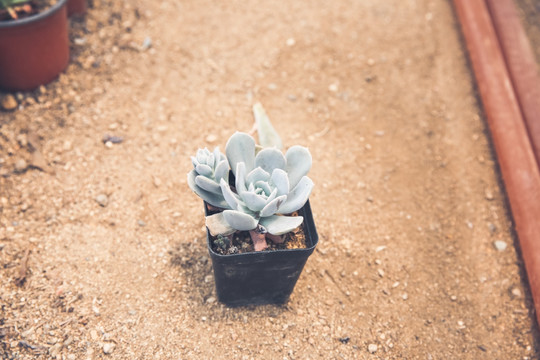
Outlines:
[{"label": "larger open pale blue-green rosette of the succulent in the black pot", "polygon": [[228,234],[233,229],[250,231],[255,250],[260,250],[266,247],[261,234],[279,236],[302,224],[301,216],[283,214],[304,206],[313,189],[313,182],[306,176],[312,162],[306,148],[293,146],[285,155],[276,148],[256,153],[255,140],[237,132],[227,142],[225,152],[236,178],[235,191],[226,179],[220,181],[229,209],[207,221],[211,233],[216,235],[218,227]]}]

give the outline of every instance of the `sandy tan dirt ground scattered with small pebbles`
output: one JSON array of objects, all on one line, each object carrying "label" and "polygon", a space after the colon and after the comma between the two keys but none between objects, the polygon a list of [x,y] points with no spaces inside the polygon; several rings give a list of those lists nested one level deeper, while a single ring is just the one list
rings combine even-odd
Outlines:
[{"label": "sandy tan dirt ground scattered with small pebbles", "polygon": [[[538,358],[449,1],[94,0],[71,42],[0,113],[0,357]],[[320,242],[286,305],[231,309],[186,174],[256,101]]]}]

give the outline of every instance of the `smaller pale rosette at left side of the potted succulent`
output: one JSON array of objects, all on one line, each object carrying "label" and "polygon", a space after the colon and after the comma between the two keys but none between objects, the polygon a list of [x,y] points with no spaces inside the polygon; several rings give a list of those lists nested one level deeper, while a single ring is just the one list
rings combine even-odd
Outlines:
[{"label": "smaller pale rosette at left side of the potted succulent", "polygon": [[229,162],[219,148],[210,152],[207,148],[199,149],[191,157],[193,170],[188,173],[188,185],[193,192],[208,204],[222,209],[229,205],[223,198],[220,181],[229,179]]}]

